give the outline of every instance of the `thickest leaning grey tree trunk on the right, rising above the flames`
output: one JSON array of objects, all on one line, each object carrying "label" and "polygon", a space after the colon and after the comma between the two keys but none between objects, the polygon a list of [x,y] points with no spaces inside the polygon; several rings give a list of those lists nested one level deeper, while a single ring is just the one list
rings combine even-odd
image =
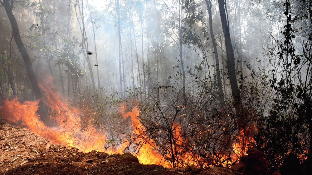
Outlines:
[{"label": "thickest leaning grey tree trunk on the right, rising above the flames", "polygon": [[[242,110],[241,106],[241,95],[237,85],[236,74],[235,74],[235,58],[234,58],[234,51],[231,42],[230,36],[230,27],[227,21],[226,11],[224,7],[224,0],[218,0],[219,2],[219,11],[222,23],[223,34],[225,38],[225,47],[227,52],[227,70],[229,73],[229,80],[232,90],[232,95],[234,99],[234,106],[236,109],[237,116],[240,117],[240,113]],[[240,119],[239,119],[240,120]]]}]

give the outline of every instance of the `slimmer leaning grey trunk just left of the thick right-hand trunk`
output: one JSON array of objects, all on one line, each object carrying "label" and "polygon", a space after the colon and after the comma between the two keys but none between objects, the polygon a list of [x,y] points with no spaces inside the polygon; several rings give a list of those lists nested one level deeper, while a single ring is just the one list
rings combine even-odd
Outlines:
[{"label": "slimmer leaning grey trunk just left of the thick right-hand trunk", "polygon": [[216,59],[216,71],[217,71],[217,85],[219,88],[219,98],[221,99],[221,102],[224,102],[224,94],[222,90],[222,82],[221,82],[221,76],[220,76],[220,68],[219,68],[219,55],[217,50],[217,43],[216,39],[213,35],[213,29],[212,29],[212,11],[211,11],[211,0],[205,0],[208,8],[208,14],[209,14],[209,28],[210,28],[210,36],[212,40],[214,55]]}]

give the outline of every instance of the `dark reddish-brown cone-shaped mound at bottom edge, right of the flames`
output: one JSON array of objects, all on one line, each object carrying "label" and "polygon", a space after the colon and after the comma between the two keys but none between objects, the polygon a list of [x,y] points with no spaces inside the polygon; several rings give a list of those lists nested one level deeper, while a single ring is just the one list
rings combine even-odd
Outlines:
[{"label": "dark reddish-brown cone-shaped mound at bottom edge, right of the flames", "polygon": [[252,148],[248,151],[244,174],[247,175],[269,175],[269,168],[259,150]]}]

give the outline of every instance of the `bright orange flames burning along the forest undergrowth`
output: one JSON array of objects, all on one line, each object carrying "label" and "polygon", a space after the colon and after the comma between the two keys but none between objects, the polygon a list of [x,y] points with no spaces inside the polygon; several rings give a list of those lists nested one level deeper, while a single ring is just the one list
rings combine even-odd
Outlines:
[{"label": "bright orange flames burning along the forest undergrowth", "polygon": [[[117,149],[110,149],[105,147],[106,136],[105,131],[99,131],[97,128],[89,128],[88,130],[82,130],[81,126],[81,111],[77,107],[69,105],[60,98],[60,94],[53,86],[53,80],[51,77],[46,77],[45,82],[40,82],[40,88],[45,92],[43,98],[44,104],[49,108],[49,114],[51,120],[56,123],[55,127],[48,127],[41,121],[38,110],[38,100],[20,102],[18,98],[3,101],[3,105],[0,106],[0,114],[2,118],[17,124],[21,127],[26,127],[30,131],[39,136],[46,137],[51,142],[58,144],[64,144],[70,147],[76,147],[85,152],[92,150],[106,152],[108,154],[124,153],[126,148],[129,148],[129,142],[124,138],[124,143],[117,146]],[[160,154],[157,149],[157,145],[154,144],[154,140],[147,137],[145,128],[139,121],[139,108],[134,106],[129,112],[126,112],[129,107],[125,104],[120,105],[120,113],[124,119],[130,117],[132,127],[133,143],[138,144],[137,151],[134,153],[142,164],[158,164],[165,167],[172,167],[172,162],[166,161],[164,155]],[[84,109],[89,110],[89,109]],[[84,112],[85,112],[84,111]],[[91,116],[88,116],[91,117]],[[193,159],[188,153],[177,154],[177,152],[183,152],[183,144],[186,140],[181,137],[181,126],[178,123],[174,123],[172,126],[173,137],[176,142],[173,145],[173,150],[176,150],[173,155],[179,160],[183,160],[183,164],[197,165],[196,160]],[[244,144],[246,144],[244,142]],[[237,155],[246,153],[241,151],[239,147],[241,144],[233,144],[233,149],[236,150]],[[238,154],[241,153],[241,154]],[[169,153],[165,157],[173,157]],[[238,158],[238,156],[237,156]],[[183,166],[180,165],[175,166]]]}]

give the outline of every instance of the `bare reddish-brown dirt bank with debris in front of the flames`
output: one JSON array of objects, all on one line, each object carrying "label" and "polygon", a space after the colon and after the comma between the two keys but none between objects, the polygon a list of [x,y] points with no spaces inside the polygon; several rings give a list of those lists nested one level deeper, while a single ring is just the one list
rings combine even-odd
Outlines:
[{"label": "bare reddish-brown dirt bank with debris in front of the flames", "polygon": [[64,145],[54,145],[48,139],[37,136],[28,129],[0,120],[0,173],[34,175],[238,175],[228,168],[207,169],[164,168],[158,165],[143,165],[127,154],[109,155],[104,152],[81,150]]}]

